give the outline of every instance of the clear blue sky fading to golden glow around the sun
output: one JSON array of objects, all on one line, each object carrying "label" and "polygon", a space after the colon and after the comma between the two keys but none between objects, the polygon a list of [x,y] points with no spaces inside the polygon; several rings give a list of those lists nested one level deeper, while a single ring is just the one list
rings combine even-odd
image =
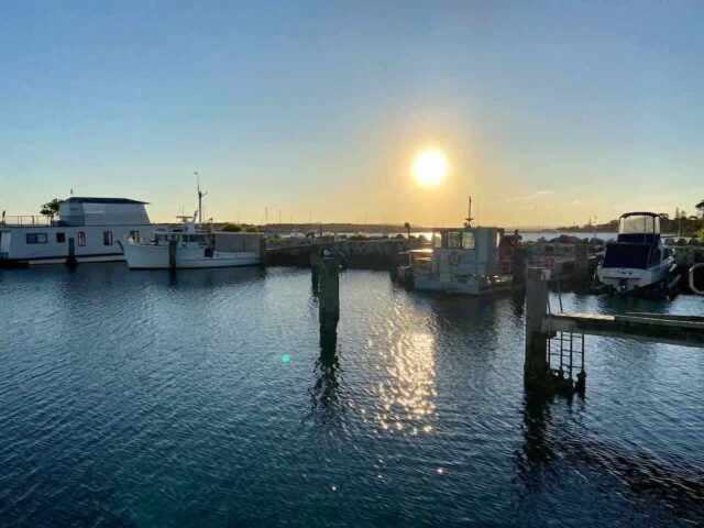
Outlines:
[{"label": "clear blue sky fading to golden glow around the sun", "polygon": [[[118,1],[0,8],[0,209],[460,226],[694,212],[704,2]],[[442,151],[444,182],[411,177]]]}]

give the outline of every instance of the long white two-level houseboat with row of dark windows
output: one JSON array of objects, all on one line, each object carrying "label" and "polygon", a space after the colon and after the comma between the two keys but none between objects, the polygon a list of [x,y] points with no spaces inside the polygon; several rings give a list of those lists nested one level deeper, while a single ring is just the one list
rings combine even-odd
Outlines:
[{"label": "long white two-level houseboat with row of dark windows", "polygon": [[0,267],[123,261],[123,238],[151,239],[146,204],[127,198],[72,197],[58,218],[6,217],[0,221]]}]

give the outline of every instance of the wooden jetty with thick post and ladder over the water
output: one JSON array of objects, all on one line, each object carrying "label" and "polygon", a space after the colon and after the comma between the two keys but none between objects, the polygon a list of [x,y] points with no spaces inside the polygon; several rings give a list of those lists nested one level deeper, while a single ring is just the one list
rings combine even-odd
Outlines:
[{"label": "wooden jetty with thick post and ladder over the water", "polygon": [[583,394],[585,336],[631,338],[642,341],[704,348],[704,317],[628,312],[572,314],[562,306],[552,312],[548,274],[526,274],[525,383],[528,388]]}]

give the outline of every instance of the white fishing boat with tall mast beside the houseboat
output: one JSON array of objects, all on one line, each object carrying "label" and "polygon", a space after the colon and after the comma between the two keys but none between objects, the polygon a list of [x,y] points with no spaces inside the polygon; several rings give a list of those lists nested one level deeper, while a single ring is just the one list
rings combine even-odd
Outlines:
[{"label": "white fishing boat with tall mast beside the houseboat", "polygon": [[125,238],[121,242],[130,270],[182,270],[251,266],[260,263],[258,233],[213,232],[202,223],[202,197],[198,186],[198,210],[180,216],[180,226],[154,232],[145,241]]}]

